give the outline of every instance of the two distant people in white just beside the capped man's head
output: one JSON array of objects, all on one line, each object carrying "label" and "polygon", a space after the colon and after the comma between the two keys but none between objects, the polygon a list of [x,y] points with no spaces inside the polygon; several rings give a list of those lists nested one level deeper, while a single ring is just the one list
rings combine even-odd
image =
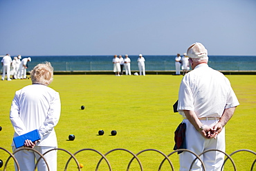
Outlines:
[{"label": "two distant people in white just beside the capped man's head", "polygon": [[178,53],[175,57],[175,68],[176,68],[176,75],[181,75],[181,69],[183,70],[183,75],[188,73],[190,69],[190,62],[188,62],[188,55],[187,53],[183,53],[183,57]]}]

